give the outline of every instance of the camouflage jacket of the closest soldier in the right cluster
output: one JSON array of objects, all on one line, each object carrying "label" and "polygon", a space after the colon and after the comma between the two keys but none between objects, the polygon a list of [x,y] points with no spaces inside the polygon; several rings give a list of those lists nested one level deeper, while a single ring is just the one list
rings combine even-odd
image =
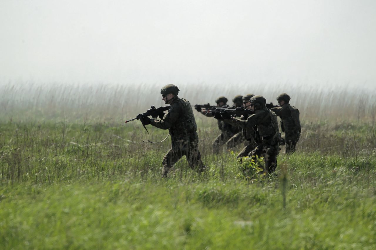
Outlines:
[{"label": "camouflage jacket of the closest soldier in the right cluster", "polygon": [[280,138],[277,116],[268,108],[256,110],[247,120],[232,118],[232,121],[249,131],[257,128],[256,140],[264,145],[276,145]]}]

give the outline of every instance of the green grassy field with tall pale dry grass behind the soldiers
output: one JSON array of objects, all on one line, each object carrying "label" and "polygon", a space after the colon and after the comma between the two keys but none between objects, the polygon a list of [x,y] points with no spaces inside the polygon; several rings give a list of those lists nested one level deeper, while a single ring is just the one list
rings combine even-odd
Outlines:
[{"label": "green grassy field with tall pale dry grass behind the soldiers", "polygon": [[[276,176],[247,181],[235,160],[241,146],[235,153],[212,154],[218,134],[214,119],[197,116],[208,171],[199,175],[184,159],[161,179],[169,139],[143,143],[147,134],[138,121],[121,122],[122,116],[140,113],[142,105],[132,109],[106,102],[94,105],[96,113],[90,107],[95,100],[79,103],[77,98],[64,106],[46,98],[52,95],[47,91],[39,101],[30,94],[23,103],[16,97],[21,90],[5,90],[9,98],[4,94],[0,115],[3,249],[376,248],[371,98],[349,107],[347,116],[336,110],[337,102],[332,109],[322,104],[313,114],[300,100],[303,132],[297,153],[280,153]],[[58,100],[68,100],[72,93],[66,92]],[[153,140],[167,134],[150,131]]]}]

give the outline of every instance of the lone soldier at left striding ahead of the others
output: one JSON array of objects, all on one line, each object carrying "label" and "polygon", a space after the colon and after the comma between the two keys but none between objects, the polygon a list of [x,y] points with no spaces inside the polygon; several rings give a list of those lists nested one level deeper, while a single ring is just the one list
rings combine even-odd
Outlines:
[{"label": "lone soldier at left striding ahead of the others", "polygon": [[201,161],[201,154],[198,148],[199,137],[197,136],[197,125],[194,119],[192,107],[189,101],[179,98],[179,89],[174,84],[168,84],[161,89],[162,100],[171,107],[162,120],[142,118],[143,124],[151,124],[154,127],[167,130],[171,135],[171,148],[162,161],[162,177],[173,165],[185,155],[190,167],[197,172],[205,170]]}]

